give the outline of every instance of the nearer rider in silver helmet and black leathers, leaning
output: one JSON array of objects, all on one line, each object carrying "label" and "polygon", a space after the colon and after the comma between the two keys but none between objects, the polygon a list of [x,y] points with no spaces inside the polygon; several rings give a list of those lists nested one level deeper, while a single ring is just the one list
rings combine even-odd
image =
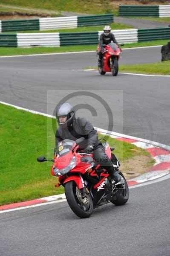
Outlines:
[{"label": "nearer rider in silver helmet and black leathers, leaning", "polygon": [[113,167],[112,161],[105,153],[104,146],[98,140],[97,131],[92,124],[84,117],[75,118],[75,109],[69,103],[64,103],[56,110],[56,119],[59,128],[55,134],[55,149],[58,151],[58,143],[62,140],[76,140],[84,137],[85,140],[80,144],[80,149],[84,153],[90,154],[93,151],[93,158],[96,164],[107,170],[110,177],[115,180],[115,183],[121,181],[122,177]]}]

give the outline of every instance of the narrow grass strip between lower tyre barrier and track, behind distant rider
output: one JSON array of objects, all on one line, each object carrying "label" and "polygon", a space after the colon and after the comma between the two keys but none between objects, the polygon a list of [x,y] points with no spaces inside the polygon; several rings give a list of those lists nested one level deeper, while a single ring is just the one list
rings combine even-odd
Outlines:
[{"label": "narrow grass strip between lower tyre barrier and track, behind distant rider", "polygon": [[[125,44],[123,48],[132,47],[146,47],[167,44],[168,40],[156,40],[139,42],[133,44]],[[0,56],[8,55],[27,55],[27,54],[43,54],[43,53],[58,53],[58,52],[79,52],[79,51],[95,51],[95,45],[77,45],[77,46],[62,46],[62,47],[31,47],[31,48],[17,48],[17,47],[0,47]]]}]

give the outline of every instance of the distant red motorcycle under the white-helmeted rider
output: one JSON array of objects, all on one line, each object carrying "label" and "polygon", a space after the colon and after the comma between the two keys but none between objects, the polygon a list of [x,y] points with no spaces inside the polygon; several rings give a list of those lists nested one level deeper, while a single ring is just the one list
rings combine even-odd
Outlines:
[{"label": "distant red motorcycle under the white-helmeted rider", "polygon": [[[123,46],[124,44],[121,44]],[[102,66],[98,66],[98,71],[101,75],[105,75],[106,72],[111,72],[112,76],[117,76],[118,74],[118,60],[122,50],[115,43],[103,44],[103,58]],[[97,52],[100,51],[99,45]]]}]

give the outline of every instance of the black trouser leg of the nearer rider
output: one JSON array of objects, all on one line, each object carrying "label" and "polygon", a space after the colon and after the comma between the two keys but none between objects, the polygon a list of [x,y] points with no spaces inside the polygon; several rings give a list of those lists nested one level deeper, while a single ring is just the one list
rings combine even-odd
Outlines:
[{"label": "black trouser leg of the nearer rider", "polygon": [[112,161],[105,153],[105,148],[103,145],[98,145],[98,147],[93,151],[93,158],[95,159],[96,165],[100,164],[100,166],[106,169],[109,175],[112,177],[115,169],[113,167]]}]

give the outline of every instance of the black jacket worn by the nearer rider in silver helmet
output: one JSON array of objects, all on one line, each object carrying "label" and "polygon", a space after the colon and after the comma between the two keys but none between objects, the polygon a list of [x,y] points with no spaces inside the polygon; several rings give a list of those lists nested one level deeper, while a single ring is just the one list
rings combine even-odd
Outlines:
[{"label": "black jacket worn by the nearer rider in silver helmet", "polygon": [[55,149],[54,153],[58,151],[58,142],[61,140],[77,140],[84,137],[85,140],[80,144],[80,149],[85,149],[88,145],[92,145],[94,149],[101,145],[98,140],[97,131],[94,129],[92,124],[86,118],[75,118],[72,125],[66,128],[61,126],[57,129],[55,134]]}]

